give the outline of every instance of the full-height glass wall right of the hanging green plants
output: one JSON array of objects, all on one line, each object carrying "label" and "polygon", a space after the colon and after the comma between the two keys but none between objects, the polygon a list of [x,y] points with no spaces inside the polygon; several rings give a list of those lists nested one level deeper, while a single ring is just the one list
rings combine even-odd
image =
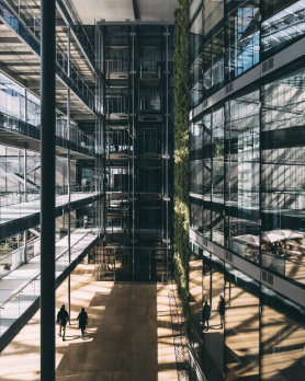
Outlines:
[{"label": "full-height glass wall right of the hanging green plants", "polygon": [[305,377],[304,9],[190,3],[191,380]]}]

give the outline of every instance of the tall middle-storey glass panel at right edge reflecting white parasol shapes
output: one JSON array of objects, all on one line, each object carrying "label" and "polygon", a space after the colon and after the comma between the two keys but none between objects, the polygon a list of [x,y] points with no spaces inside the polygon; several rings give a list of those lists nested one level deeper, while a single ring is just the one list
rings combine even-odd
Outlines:
[{"label": "tall middle-storey glass panel at right edge reflecting white parasol shapes", "polygon": [[305,284],[304,83],[295,73],[262,86],[262,266]]}]

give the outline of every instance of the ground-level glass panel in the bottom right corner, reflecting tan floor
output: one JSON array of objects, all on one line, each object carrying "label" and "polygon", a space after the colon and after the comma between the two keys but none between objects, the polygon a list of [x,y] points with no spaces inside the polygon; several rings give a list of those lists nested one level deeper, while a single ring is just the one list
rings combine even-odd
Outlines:
[{"label": "ground-level glass panel in the bottom right corner, reflecting tan floor", "polygon": [[261,380],[305,379],[304,308],[262,286]]}]

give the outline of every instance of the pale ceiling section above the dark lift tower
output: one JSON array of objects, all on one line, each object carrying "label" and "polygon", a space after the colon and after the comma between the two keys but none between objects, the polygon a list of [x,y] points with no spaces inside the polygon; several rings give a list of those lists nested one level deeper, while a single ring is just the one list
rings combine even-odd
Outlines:
[{"label": "pale ceiling section above the dark lift tower", "polygon": [[173,24],[177,0],[70,0],[82,23],[105,21],[168,21]]}]

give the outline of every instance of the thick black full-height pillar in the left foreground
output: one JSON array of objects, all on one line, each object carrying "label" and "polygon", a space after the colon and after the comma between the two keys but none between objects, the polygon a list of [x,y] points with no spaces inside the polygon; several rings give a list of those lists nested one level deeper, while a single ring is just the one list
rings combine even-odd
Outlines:
[{"label": "thick black full-height pillar in the left foreground", "polygon": [[55,381],[55,0],[41,1],[41,380]]}]

